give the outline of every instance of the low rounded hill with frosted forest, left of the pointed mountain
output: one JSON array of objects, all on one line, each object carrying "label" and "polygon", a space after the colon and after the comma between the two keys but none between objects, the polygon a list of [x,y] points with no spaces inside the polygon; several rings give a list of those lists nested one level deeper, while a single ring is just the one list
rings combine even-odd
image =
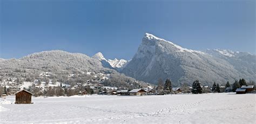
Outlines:
[{"label": "low rounded hill with frosted forest, left of the pointed mountain", "polygon": [[[82,53],[53,50],[33,53],[20,59],[0,61],[0,76],[7,74],[12,78],[21,77],[21,75],[22,77],[31,77],[31,75],[38,77],[42,72],[51,72],[58,77],[68,77],[72,73],[81,76],[86,72],[103,73],[110,74],[112,85],[127,87],[132,83],[138,84],[134,82],[135,79],[126,77],[116,70],[105,68],[100,61]],[[143,86],[143,84],[140,85]]]}]

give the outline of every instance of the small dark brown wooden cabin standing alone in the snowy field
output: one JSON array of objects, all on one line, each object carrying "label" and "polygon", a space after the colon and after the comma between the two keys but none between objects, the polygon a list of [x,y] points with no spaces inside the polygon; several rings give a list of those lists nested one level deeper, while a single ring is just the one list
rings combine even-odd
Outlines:
[{"label": "small dark brown wooden cabin standing alone in the snowy field", "polygon": [[15,93],[15,104],[31,104],[31,97],[33,93],[30,93],[26,90],[19,91]]}]

